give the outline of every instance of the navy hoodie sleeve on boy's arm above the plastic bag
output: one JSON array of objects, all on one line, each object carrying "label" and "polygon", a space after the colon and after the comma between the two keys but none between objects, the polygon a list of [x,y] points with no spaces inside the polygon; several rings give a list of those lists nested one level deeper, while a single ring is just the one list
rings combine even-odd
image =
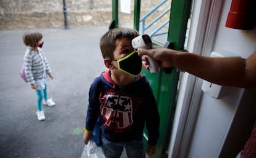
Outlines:
[{"label": "navy hoodie sleeve on boy's arm above the plastic bag", "polygon": [[89,90],[89,100],[87,107],[87,116],[85,119],[85,128],[92,131],[96,120],[100,116],[100,79],[94,79]]}]

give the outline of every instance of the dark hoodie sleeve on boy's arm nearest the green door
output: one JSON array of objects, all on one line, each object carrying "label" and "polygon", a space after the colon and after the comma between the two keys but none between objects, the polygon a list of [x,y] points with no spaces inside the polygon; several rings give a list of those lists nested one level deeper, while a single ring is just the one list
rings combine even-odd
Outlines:
[{"label": "dark hoodie sleeve on boy's arm nearest the green door", "polygon": [[148,130],[148,144],[156,145],[160,132],[160,115],[156,104],[155,96],[151,87],[148,85],[148,96],[146,103],[146,128]]}]

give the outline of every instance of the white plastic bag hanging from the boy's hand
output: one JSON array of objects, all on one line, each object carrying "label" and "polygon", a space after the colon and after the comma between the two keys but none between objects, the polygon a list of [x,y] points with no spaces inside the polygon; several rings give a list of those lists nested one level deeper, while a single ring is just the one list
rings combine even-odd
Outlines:
[{"label": "white plastic bag hanging from the boy's hand", "polygon": [[[105,158],[103,151],[94,141],[89,140],[88,144],[83,148],[81,158]],[[121,158],[127,158],[126,149],[122,152]]]}]

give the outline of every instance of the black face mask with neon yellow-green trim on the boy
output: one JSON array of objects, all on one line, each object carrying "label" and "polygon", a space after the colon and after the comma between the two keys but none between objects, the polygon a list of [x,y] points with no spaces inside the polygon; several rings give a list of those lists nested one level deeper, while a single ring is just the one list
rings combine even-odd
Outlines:
[{"label": "black face mask with neon yellow-green trim on the boy", "polygon": [[114,61],[117,61],[117,69],[132,76],[138,76],[142,70],[142,58],[136,50],[126,55],[126,57]]}]

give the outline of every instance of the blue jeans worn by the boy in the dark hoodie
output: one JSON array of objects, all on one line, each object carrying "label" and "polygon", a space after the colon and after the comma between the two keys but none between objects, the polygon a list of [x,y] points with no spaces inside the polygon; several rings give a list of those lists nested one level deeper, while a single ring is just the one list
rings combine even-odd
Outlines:
[{"label": "blue jeans worn by the boy in the dark hoodie", "polygon": [[143,138],[122,143],[114,143],[103,138],[102,147],[106,158],[119,158],[124,148],[128,158],[145,158]]}]

